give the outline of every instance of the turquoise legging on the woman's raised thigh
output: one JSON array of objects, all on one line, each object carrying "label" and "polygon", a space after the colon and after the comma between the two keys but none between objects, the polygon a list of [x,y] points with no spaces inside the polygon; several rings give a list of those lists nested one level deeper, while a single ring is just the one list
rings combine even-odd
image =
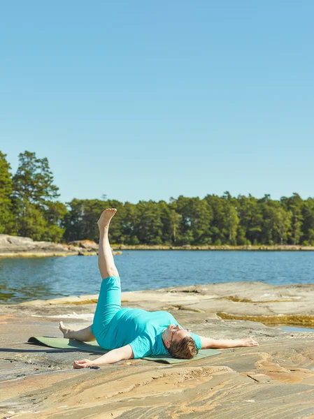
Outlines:
[{"label": "turquoise legging on the woman's raised thigh", "polygon": [[120,277],[103,279],[93,324],[91,326],[92,333],[97,341],[106,335],[111,319],[121,308]]}]

